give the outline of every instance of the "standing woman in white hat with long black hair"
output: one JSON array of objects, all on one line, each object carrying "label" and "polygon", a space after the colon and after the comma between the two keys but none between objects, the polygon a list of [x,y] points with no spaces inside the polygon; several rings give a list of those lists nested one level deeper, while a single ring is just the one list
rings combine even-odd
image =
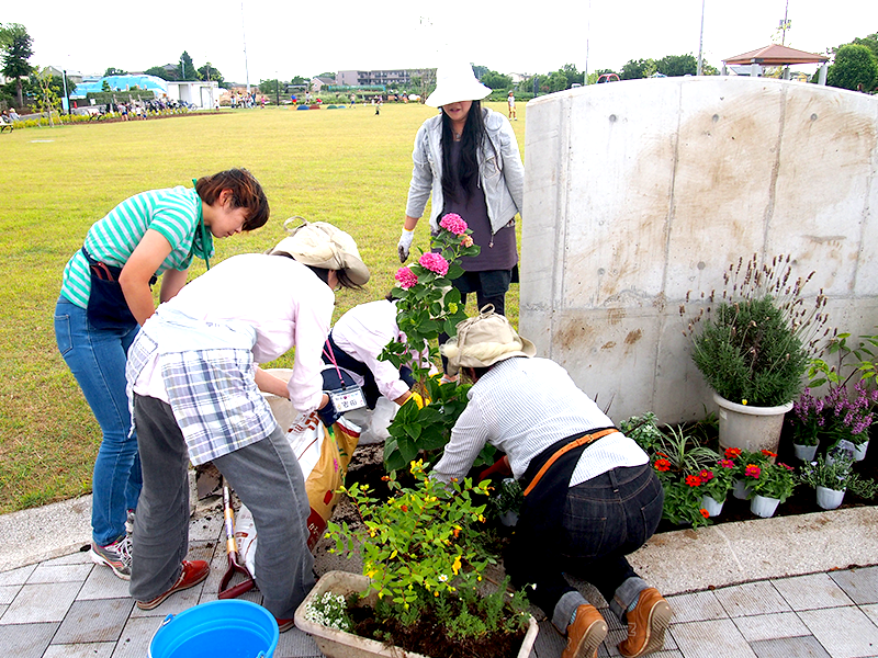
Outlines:
[{"label": "standing woman in white hat with long black hair", "polygon": [[506,308],[506,292],[518,265],[515,216],[521,212],[525,168],[509,121],[482,107],[491,89],[475,79],[466,63],[440,66],[427,104],[440,113],[424,122],[415,137],[414,169],[405,224],[397,250],[408,258],[415,226],[432,195],[430,231],[448,213],[463,217],[473,230],[479,256],[462,259],[464,274],[454,280],[465,303],[475,293],[479,308]]}]

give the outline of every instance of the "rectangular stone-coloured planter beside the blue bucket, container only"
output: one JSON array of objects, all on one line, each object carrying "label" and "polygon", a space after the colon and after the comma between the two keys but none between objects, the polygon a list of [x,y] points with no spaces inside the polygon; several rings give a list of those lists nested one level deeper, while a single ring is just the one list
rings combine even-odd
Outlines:
[{"label": "rectangular stone-coloured planter beside the blue bucket, container only", "polygon": [[[305,619],[305,608],[309,601],[317,599],[324,592],[334,592],[347,597],[356,592],[362,592],[369,587],[369,579],[360,574],[348,571],[328,571],[324,574],[305,597],[302,604],[295,611],[295,625],[300,631],[311,634],[317,648],[320,649],[326,658],[427,658],[421,654],[406,651],[399,647],[386,645],[374,639],[367,639],[352,633],[336,631],[320,624],[315,624]],[[372,594],[374,597],[374,594]],[[369,599],[367,599],[367,602]],[[521,643],[521,648],[517,658],[528,658],[537,639],[539,626],[537,620],[530,617],[530,625]]]}]

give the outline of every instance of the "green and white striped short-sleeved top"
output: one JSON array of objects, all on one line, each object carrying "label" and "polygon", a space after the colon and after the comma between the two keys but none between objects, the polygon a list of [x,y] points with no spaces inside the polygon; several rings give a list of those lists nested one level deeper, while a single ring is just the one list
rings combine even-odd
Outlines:
[{"label": "green and white striped short-sleeved top", "polygon": [[[194,189],[177,188],[153,190],[135,194],[114,207],[100,222],[95,222],[86,236],[86,250],[95,260],[122,268],[146,230],[160,232],[170,242],[171,252],[156,271],[187,270],[192,257],[203,258],[199,217],[201,197]],[[213,256],[213,239],[207,236],[207,254]],[[88,308],[91,294],[89,263],[82,251],[77,251],[64,269],[61,295],[81,308]]]}]

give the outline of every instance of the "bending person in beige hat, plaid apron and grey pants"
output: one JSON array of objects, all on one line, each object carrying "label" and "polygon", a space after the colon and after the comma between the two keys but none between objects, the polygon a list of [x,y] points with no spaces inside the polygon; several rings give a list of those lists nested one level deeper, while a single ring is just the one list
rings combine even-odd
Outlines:
[{"label": "bending person in beige hat, plaid apron and grey pants", "polygon": [[[261,395],[309,415],[328,404],[320,353],[338,286],[369,281],[357,245],[305,223],[268,253],[234,256],[187,284],[144,324],[127,383],[143,490],[134,519],[131,595],[142,610],[203,581],[189,547],[187,466],[213,461],[252,512],[257,585],[281,631],[314,585],[302,469]],[[295,348],[289,384],[259,368]],[[299,421],[302,422],[302,421]]]}]

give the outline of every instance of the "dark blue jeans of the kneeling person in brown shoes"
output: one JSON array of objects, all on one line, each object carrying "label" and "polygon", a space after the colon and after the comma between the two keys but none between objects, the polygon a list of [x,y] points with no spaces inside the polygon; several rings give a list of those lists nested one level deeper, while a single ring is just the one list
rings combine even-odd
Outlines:
[{"label": "dark blue jeans of the kneeling person in brown shoes", "polygon": [[[612,603],[622,583],[637,578],[626,556],[655,532],[663,503],[664,490],[649,464],[615,468],[571,487],[552,536],[516,529],[506,571],[518,587],[537,586],[528,595],[549,617],[561,597],[574,591],[564,572],[587,580]],[[617,601],[622,609],[629,603]]]}]

